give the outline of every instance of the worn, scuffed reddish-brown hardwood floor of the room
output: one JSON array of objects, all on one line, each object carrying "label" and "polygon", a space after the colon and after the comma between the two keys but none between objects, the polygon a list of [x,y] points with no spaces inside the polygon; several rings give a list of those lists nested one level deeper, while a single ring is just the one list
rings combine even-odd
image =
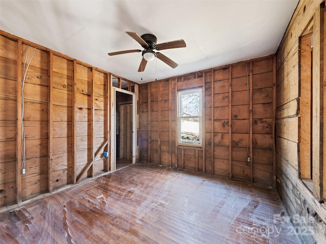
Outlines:
[{"label": "worn, scuffed reddish-brown hardwood floor of the room", "polygon": [[284,212],[275,190],[133,164],[1,212],[1,243],[300,243]]}]

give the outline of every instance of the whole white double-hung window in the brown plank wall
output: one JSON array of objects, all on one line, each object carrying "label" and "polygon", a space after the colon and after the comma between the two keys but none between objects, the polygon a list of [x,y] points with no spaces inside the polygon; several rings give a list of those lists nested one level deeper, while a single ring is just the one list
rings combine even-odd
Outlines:
[{"label": "whole white double-hung window in the brown plank wall", "polygon": [[178,142],[202,144],[202,89],[178,93]]}]

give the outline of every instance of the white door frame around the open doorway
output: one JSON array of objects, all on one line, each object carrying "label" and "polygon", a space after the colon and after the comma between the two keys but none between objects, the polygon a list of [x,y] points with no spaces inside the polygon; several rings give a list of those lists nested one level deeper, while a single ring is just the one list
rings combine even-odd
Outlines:
[{"label": "white door frame around the open doorway", "polygon": [[116,170],[116,94],[119,93],[125,93],[132,96],[132,163],[134,164],[137,158],[137,121],[136,121],[136,114],[137,114],[137,106],[136,106],[136,95],[132,92],[129,92],[128,90],[124,90],[118,87],[112,87],[112,93],[111,93],[111,170]]}]

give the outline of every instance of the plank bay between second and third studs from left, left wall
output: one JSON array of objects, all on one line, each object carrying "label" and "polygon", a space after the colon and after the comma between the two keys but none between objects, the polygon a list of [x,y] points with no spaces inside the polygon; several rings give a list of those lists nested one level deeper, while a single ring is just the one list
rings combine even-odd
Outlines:
[{"label": "plank bay between second and third studs from left, left wall", "polygon": [[[73,104],[72,74],[73,62],[58,55],[53,55],[53,149],[52,182],[53,189],[72,184],[72,117]],[[62,114],[65,117],[62,117]]]}]

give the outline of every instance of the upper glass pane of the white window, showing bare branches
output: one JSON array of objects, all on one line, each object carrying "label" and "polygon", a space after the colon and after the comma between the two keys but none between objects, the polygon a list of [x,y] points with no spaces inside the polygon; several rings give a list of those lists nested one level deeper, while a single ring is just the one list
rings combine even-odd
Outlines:
[{"label": "upper glass pane of the white window, showing bare branches", "polygon": [[181,94],[181,116],[199,116],[200,114],[200,95],[196,93]]}]

